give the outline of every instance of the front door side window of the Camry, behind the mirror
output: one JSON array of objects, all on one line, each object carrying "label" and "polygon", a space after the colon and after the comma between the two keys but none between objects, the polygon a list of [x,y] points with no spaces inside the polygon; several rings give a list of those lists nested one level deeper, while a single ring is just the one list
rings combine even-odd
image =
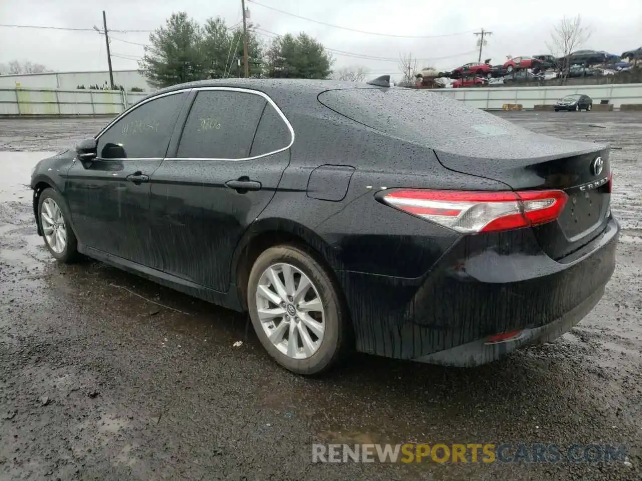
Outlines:
[{"label": "front door side window of the Camry, behind the mirror", "polygon": [[153,99],[121,117],[98,139],[98,158],[162,158],[187,94]]}]

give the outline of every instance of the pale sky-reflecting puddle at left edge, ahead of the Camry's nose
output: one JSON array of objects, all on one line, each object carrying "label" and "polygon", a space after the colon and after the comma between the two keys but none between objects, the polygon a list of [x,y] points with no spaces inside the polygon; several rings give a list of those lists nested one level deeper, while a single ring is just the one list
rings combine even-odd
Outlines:
[{"label": "pale sky-reflecting puddle at left edge, ahead of the Camry's nose", "polygon": [[[0,152],[0,201],[30,202],[31,168],[55,152]],[[19,197],[23,197],[19,199]]]}]

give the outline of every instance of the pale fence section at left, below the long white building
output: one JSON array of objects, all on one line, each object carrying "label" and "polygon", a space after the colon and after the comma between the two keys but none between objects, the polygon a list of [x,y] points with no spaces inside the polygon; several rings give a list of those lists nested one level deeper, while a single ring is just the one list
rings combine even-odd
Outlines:
[{"label": "pale fence section at left, below the long white building", "polygon": [[0,88],[0,115],[116,115],[147,95],[123,90]]}]

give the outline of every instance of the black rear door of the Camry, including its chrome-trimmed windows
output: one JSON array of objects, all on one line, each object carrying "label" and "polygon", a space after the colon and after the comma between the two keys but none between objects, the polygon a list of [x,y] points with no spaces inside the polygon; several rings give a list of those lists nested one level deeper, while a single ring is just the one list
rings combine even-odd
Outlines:
[{"label": "black rear door of the Camry, including its chrome-trimmed windows", "polygon": [[227,292],[234,249],[274,196],[292,140],[261,92],[198,90],[176,152],[152,176],[152,232],[166,273]]}]

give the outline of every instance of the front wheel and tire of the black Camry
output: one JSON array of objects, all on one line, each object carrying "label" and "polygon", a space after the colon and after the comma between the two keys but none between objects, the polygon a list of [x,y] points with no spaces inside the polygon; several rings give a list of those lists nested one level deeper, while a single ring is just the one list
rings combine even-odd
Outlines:
[{"label": "front wheel and tire of the black Camry", "polygon": [[42,229],[44,244],[56,260],[65,264],[71,264],[80,257],[78,239],[71,228],[70,219],[67,203],[56,190],[48,187],[40,192],[38,223]]}]

